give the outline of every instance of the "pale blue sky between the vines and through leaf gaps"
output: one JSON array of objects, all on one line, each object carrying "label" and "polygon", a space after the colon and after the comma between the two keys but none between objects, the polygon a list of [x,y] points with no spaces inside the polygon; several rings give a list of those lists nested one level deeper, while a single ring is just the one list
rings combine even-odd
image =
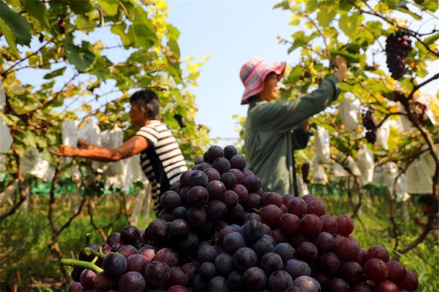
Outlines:
[{"label": "pale blue sky between the vines and through leaf gaps", "polygon": [[[198,106],[195,121],[209,127],[211,138],[219,138],[218,145],[224,146],[237,141],[237,120],[232,116],[246,116],[247,106],[240,105],[244,92],[244,86],[239,79],[242,64],[253,56],[270,62],[286,61],[291,66],[298,62],[300,50],[288,54],[288,47],[279,44],[277,37],[291,40],[291,35],[298,29],[305,32],[307,29],[288,25],[292,12],[272,9],[279,1],[168,1],[170,11],[167,21],[180,30],[178,43],[182,60],[193,56],[195,61],[200,61],[202,57],[211,56],[200,67],[198,87],[192,87],[191,91],[195,94]],[[425,23],[423,31],[433,28],[434,23],[435,21]],[[108,28],[96,29],[88,35],[78,35],[76,41],[81,39],[92,43],[102,40],[106,46],[120,44],[119,37],[110,34]],[[0,42],[3,43],[4,38]],[[38,40],[32,40],[31,47],[40,47]],[[25,50],[27,48],[20,48],[20,51]],[[106,50],[104,53],[112,62],[125,60],[130,54],[121,48]],[[385,64],[385,55],[382,54],[379,58],[376,61]],[[439,62],[429,65],[427,69],[431,72],[427,77],[437,72],[438,65]],[[45,81],[43,76],[54,69],[58,68],[53,66],[51,70],[40,71],[39,75],[30,69],[24,69],[19,72],[18,77],[23,83],[38,86]],[[67,69],[64,76],[56,78],[55,86],[62,87],[71,75],[73,71]],[[86,77],[82,81],[85,82]],[[107,82],[102,84],[99,93],[108,93],[114,88],[115,82]],[[438,84],[434,82],[424,88],[425,92],[435,95],[438,89]],[[119,95],[120,93],[106,95],[99,101],[94,101],[93,96],[78,97],[73,103],[67,101],[62,109],[67,105],[77,108],[82,102],[90,104],[94,109]],[[127,110],[128,108],[127,106]]]}]

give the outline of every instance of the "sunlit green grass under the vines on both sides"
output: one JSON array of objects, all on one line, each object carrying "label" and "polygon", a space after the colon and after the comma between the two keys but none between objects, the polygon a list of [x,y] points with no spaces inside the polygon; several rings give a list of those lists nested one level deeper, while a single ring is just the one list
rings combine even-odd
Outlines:
[{"label": "sunlit green grass under the vines on both sides", "polygon": [[[322,197],[327,202],[329,214],[351,214],[351,207],[346,196],[325,193]],[[66,201],[65,199],[57,201],[55,217],[58,218],[58,228],[73,214],[73,210],[67,208]],[[361,222],[359,219],[355,219],[353,236],[358,239],[361,247],[383,245],[392,256],[394,239],[392,239],[392,229],[390,228],[387,199],[382,194],[378,194],[365,201],[359,212]],[[38,197],[34,206],[35,208],[31,208],[27,215],[23,210],[19,210],[1,222],[1,282],[6,282],[10,287],[17,285],[19,291],[62,289],[65,287],[62,286],[65,283],[63,283],[60,273],[58,259],[49,252],[48,247],[51,232],[47,220],[47,199]],[[104,206],[104,203],[99,204],[94,217],[97,225],[106,225],[115,217],[117,208],[117,204],[108,207]],[[402,219],[401,206],[397,205],[396,208],[396,220],[400,232],[403,234],[400,236],[401,243],[399,245],[402,247],[416,238],[420,233],[420,228],[414,224],[413,219]],[[408,211],[410,218],[422,216],[413,204],[409,204]],[[146,228],[150,220],[151,218],[145,218],[141,213],[137,227]],[[107,233],[111,230],[119,231],[127,224],[126,217],[121,216],[111,229],[104,231]],[[73,220],[71,226],[60,235],[58,243],[66,258],[78,256],[80,248],[84,245],[87,232],[91,232],[91,243],[102,242],[99,232],[91,228],[90,218],[84,208],[82,214]],[[401,256],[400,260],[407,269],[418,275],[420,282],[418,291],[439,291],[439,246],[431,236],[428,236],[427,240],[418,245],[416,249]]]}]

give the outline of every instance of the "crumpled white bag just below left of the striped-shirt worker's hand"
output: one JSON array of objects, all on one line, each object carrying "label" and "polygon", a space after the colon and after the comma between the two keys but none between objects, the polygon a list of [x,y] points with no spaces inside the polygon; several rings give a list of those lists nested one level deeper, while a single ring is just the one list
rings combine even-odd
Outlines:
[{"label": "crumpled white bag just below left of the striped-shirt worker's hand", "polygon": [[51,181],[55,175],[55,169],[49,161],[41,157],[37,148],[28,148],[20,159],[21,171],[40,178],[46,182]]}]

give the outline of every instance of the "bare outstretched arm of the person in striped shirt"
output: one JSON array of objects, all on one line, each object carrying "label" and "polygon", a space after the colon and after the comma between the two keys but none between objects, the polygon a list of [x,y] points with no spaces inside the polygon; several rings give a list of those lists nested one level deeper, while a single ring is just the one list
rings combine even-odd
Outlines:
[{"label": "bare outstretched arm of the person in striped shirt", "polygon": [[149,147],[147,139],[134,136],[117,148],[91,147],[72,148],[68,145],[60,145],[59,156],[87,158],[102,162],[118,161],[140,153]]}]

